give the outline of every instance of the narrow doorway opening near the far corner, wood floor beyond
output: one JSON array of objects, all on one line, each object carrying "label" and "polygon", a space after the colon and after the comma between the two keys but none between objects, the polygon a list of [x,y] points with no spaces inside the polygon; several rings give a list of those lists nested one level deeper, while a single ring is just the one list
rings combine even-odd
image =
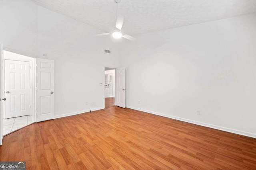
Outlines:
[{"label": "narrow doorway opening near the far corner, wood floor beyond", "polygon": [[115,106],[115,69],[105,67],[104,71],[105,108]]}]

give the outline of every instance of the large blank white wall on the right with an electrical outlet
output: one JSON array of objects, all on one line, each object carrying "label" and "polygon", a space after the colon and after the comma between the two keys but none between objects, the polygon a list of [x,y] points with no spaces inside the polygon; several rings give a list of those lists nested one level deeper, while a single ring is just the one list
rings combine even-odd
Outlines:
[{"label": "large blank white wall on the right with an electrical outlet", "polygon": [[127,107],[256,137],[255,18],[211,21],[123,41]]}]

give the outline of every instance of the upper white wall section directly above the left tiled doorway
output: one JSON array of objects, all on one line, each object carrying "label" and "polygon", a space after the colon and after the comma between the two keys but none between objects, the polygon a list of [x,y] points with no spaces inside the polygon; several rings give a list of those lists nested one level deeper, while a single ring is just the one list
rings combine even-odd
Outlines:
[{"label": "upper white wall section directly above the left tiled doorway", "polygon": [[0,0],[0,43],[25,55],[37,55],[37,5],[31,0]]}]

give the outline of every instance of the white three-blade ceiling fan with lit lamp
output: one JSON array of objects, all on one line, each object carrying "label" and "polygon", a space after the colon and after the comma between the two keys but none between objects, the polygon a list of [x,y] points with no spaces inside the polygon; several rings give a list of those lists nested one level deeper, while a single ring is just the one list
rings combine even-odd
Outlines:
[{"label": "white three-blade ceiling fan with lit lamp", "polygon": [[121,37],[124,37],[126,39],[129,39],[131,41],[135,41],[135,38],[130,36],[130,35],[127,35],[127,34],[122,34],[121,33],[121,29],[122,29],[122,26],[123,26],[123,23],[124,23],[124,17],[121,16],[121,15],[118,15],[118,3],[120,2],[121,0],[115,0],[116,2],[116,29],[114,29],[114,31],[112,31],[111,33],[102,33],[102,34],[97,34],[96,36],[102,36],[102,35],[110,35],[112,34],[112,37],[118,39],[118,38],[121,38]]}]

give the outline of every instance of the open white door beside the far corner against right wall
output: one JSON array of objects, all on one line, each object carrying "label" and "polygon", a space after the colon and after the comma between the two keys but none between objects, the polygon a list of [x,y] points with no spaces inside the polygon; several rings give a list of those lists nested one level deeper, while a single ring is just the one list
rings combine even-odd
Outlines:
[{"label": "open white door beside the far corner against right wall", "polygon": [[125,67],[116,68],[116,106],[125,108]]}]

